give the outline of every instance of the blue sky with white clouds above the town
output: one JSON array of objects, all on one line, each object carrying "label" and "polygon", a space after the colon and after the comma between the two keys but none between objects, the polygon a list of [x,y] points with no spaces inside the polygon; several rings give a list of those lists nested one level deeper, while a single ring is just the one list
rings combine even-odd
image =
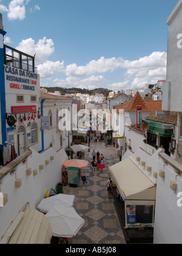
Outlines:
[{"label": "blue sky with white clouds above the town", "polygon": [[41,87],[127,90],[166,79],[178,0],[0,0],[4,43],[35,55]]}]

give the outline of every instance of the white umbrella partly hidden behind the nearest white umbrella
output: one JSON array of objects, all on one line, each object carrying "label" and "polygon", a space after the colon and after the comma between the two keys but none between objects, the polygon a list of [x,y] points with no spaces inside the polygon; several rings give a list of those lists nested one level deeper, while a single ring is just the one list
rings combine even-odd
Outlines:
[{"label": "white umbrella partly hidden behind the nearest white umbrella", "polygon": [[42,199],[40,204],[38,205],[38,209],[40,212],[48,213],[49,210],[55,206],[67,206],[72,207],[73,202],[75,200],[75,196],[70,194],[57,194],[56,196],[50,196]]}]

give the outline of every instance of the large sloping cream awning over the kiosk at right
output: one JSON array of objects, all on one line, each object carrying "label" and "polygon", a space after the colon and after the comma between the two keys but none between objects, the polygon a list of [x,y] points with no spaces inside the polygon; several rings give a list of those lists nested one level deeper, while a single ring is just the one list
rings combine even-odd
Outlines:
[{"label": "large sloping cream awning over the kiosk at right", "polygon": [[155,200],[156,183],[152,182],[130,157],[109,167],[109,170],[124,200]]}]

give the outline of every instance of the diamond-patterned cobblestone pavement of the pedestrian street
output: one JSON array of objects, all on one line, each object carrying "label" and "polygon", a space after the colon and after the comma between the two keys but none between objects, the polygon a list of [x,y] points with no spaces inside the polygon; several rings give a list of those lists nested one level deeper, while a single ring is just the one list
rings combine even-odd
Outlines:
[{"label": "diamond-patterned cobblestone pavement of the pedestrian street", "polygon": [[[87,146],[87,144],[86,144]],[[105,157],[106,168],[91,172],[92,152],[99,151]],[[119,162],[116,149],[105,146],[103,142],[90,143],[90,152],[86,151],[84,160],[89,166],[84,168],[87,183],[81,181],[76,188],[64,186],[64,194],[74,194],[73,207],[84,220],[84,226],[76,236],[69,238],[69,244],[125,244],[124,235],[114,207],[114,199],[107,195],[106,183],[109,179],[109,166]]]}]

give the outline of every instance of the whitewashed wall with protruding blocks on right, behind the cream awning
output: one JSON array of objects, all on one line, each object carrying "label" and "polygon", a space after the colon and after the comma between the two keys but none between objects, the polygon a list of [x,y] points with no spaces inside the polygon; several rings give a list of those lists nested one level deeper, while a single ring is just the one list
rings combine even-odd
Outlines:
[{"label": "whitewashed wall with protruding blocks on right, behind the cream awning", "polygon": [[[165,155],[166,160],[163,160],[160,154]],[[149,155],[146,151],[138,149],[135,154],[132,154],[132,152],[126,153],[122,160],[127,157],[132,157],[136,165],[141,169],[143,168],[140,165],[141,161],[145,161],[146,166],[151,166],[151,172],[146,171],[146,167],[143,168],[147,176],[153,177],[153,172],[158,173],[153,243],[181,244],[182,207],[177,205],[177,201],[181,198],[177,197],[177,195],[178,193],[182,193],[182,179],[177,174],[177,168],[180,169],[181,165],[164,154],[161,148],[155,151],[153,155]],[[140,163],[136,162],[136,157],[140,157]],[[166,165],[167,162],[168,164]],[[177,166],[177,168],[172,167],[172,165]],[[161,169],[165,171],[165,177],[163,178],[159,175]],[[171,190],[171,181],[177,182],[178,187],[176,191]]]}]

